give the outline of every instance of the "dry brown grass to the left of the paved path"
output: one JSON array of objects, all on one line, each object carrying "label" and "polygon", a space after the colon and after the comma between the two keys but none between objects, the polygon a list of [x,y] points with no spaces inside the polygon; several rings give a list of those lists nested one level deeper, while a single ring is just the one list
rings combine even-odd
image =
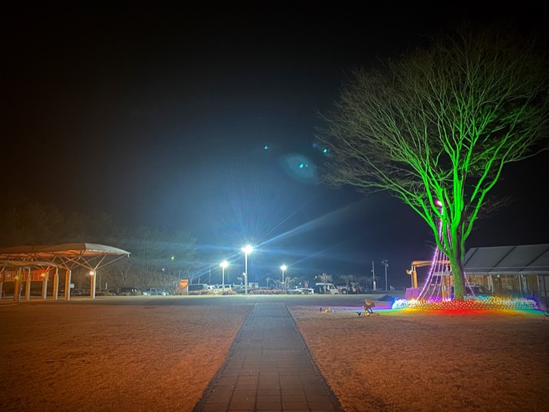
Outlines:
[{"label": "dry brown grass to the left of the paved path", "polygon": [[0,305],[0,411],[191,411],[252,306]]}]

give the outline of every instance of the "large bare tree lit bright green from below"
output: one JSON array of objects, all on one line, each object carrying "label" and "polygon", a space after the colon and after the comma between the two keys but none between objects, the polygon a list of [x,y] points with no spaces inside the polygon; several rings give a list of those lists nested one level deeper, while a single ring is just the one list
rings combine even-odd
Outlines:
[{"label": "large bare tree lit bright green from below", "polygon": [[538,50],[515,31],[463,24],[355,71],[323,115],[323,181],[410,205],[452,266],[455,299],[465,241],[502,168],[547,148],[549,71]]}]

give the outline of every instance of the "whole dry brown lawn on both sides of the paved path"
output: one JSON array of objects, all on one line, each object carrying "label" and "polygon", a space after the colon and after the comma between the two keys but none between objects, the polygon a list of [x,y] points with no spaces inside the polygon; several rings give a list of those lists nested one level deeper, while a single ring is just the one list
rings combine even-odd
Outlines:
[{"label": "whole dry brown lawn on both sides of the paved path", "polygon": [[[541,314],[287,304],[345,411],[548,410]],[[252,307],[213,305],[3,303],[0,411],[191,411]]]}]

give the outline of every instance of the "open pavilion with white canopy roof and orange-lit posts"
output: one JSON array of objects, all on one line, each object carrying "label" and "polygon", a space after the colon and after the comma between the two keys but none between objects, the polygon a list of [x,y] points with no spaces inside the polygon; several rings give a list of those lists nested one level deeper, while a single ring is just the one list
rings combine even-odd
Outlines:
[{"label": "open pavilion with white canopy roof and orange-lit posts", "polygon": [[65,271],[65,300],[71,299],[71,271],[84,267],[90,273],[90,297],[95,299],[97,271],[128,258],[130,252],[95,243],[69,243],[47,246],[16,246],[0,248],[0,298],[4,282],[14,282],[14,301],[21,299],[25,284],[25,300],[30,300],[32,281],[42,284],[41,297],[47,297],[47,284],[53,272],[54,299],[58,299],[60,269]]}]

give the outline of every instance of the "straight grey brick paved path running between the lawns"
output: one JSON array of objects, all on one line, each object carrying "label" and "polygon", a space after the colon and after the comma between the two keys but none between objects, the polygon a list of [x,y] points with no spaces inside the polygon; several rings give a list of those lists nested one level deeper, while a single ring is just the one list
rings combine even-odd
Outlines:
[{"label": "straight grey brick paved path running between the lawns", "polygon": [[282,303],[258,303],[194,412],[341,411]]}]

